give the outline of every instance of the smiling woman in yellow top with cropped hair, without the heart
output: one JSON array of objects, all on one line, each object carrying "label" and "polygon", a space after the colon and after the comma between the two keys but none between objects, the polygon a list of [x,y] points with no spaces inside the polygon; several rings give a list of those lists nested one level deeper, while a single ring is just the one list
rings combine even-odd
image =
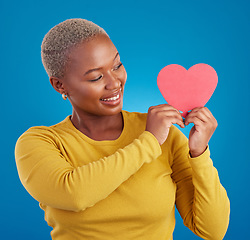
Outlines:
[{"label": "smiling woman in yellow top with cropped hair, without the heart", "polygon": [[[163,104],[147,114],[122,110],[126,71],[107,33],[83,19],[52,28],[42,60],[71,116],[32,127],[16,162],[55,240],[172,239],[175,205],[204,239],[222,239],[229,200],[208,149],[217,123],[195,108],[183,122]],[[175,127],[194,123],[189,140]]]}]

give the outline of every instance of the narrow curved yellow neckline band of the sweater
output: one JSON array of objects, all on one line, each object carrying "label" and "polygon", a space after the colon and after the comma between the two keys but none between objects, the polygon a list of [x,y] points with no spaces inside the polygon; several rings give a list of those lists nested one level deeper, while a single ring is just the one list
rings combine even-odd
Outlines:
[{"label": "narrow curved yellow neckline band of the sweater", "polygon": [[118,144],[119,142],[123,141],[124,137],[125,137],[125,132],[126,132],[126,129],[127,129],[127,114],[126,114],[126,111],[122,110],[121,111],[122,113],[122,117],[123,117],[123,129],[122,129],[122,132],[120,134],[120,136],[115,139],[115,140],[94,140],[90,137],[88,137],[87,135],[85,135],[84,133],[82,133],[80,130],[78,130],[74,124],[71,122],[71,115],[69,115],[65,121],[67,123],[67,127],[69,127],[70,129],[72,129],[73,131],[75,131],[76,133],[78,133],[78,135],[83,138],[85,141],[91,143],[91,144],[94,144],[94,145],[115,145],[115,144]]}]

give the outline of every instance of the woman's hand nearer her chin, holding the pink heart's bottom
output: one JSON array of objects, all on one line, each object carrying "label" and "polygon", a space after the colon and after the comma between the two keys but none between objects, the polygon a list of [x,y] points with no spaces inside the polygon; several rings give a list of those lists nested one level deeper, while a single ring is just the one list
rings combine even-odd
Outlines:
[{"label": "woman's hand nearer her chin, holding the pink heart's bottom", "polygon": [[152,106],[148,109],[146,131],[151,132],[162,145],[172,124],[184,128],[181,113],[169,104]]}]

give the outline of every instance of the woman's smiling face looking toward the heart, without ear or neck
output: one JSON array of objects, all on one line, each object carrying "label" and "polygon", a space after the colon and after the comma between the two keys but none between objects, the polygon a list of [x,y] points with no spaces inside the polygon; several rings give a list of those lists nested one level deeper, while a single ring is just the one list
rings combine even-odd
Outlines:
[{"label": "woman's smiling face looking toward the heart, without ear or neck", "polygon": [[126,79],[117,49],[101,34],[71,51],[63,86],[78,114],[106,116],[122,110]]}]

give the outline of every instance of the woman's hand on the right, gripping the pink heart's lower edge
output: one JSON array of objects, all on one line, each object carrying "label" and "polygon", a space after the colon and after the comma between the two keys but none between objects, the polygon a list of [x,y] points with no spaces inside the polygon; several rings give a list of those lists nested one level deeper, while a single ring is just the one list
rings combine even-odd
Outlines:
[{"label": "woman's hand on the right, gripping the pink heart's lower edge", "polygon": [[189,149],[191,157],[198,157],[207,148],[212,137],[217,121],[206,107],[194,108],[185,118],[185,125],[193,123],[189,133]]}]

